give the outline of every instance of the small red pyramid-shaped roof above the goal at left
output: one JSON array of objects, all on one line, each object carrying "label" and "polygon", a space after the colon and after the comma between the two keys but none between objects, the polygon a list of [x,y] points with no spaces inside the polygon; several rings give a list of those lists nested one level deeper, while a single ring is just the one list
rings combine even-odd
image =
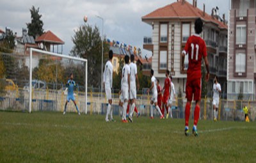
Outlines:
[{"label": "small red pyramid-shaped roof above the goal at left", "polygon": [[51,31],[47,31],[43,35],[39,36],[35,40],[36,42],[49,42],[49,43],[55,43],[55,44],[64,44],[64,42],[58,38],[58,36],[54,35]]}]

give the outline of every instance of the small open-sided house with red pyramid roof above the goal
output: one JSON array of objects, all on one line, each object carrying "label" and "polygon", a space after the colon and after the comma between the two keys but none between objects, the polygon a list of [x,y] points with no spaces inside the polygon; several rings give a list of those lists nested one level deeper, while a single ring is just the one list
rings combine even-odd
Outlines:
[{"label": "small open-sided house with red pyramid roof above the goal", "polygon": [[[39,36],[35,40],[38,43],[40,49],[46,50],[49,52],[56,52],[58,54],[62,54],[63,52],[63,42],[58,36],[56,36],[52,31],[47,31],[43,35]],[[61,45],[61,48],[59,48]]]}]

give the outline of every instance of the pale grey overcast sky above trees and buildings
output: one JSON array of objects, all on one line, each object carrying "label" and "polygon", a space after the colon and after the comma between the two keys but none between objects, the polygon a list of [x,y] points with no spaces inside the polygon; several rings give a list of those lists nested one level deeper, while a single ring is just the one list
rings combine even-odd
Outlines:
[{"label": "pale grey overcast sky above trees and buildings", "polygon": [[[141,22],[141,17],[153,12],[157,8],[166,6],[177,0],[1,0],[0,5],[0,29],[10,27],[13,33],[22,35],[22,27],[27,27],[26,22],[31,22],[29,9],[31,6],[40,8],[44,22],[44,31],[51,30],[61,40],[63,54],[69,54],[73,47],[71,37],[74,30],[84,24],[84,15],[88,16],[88,24],[98,26],[100,35],[102,33],[102,20],[95,17],[99,15],[104,19],[104,35],[111,40],[128,45],[143,47],[143,36],[152,36],[152,27]],[[193,0],[188,0],[192,3]],[[211,13],[212,7],[220,8],[220,15],[225,13],[228,19],[228,8],[230,0],[198,0],[197,6]],[[143,55],[147,54],[143,50]]]}]

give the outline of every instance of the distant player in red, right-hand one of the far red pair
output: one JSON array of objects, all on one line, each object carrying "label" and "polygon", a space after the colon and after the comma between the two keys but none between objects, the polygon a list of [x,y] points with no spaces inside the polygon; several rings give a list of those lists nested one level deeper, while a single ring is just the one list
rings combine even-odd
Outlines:
[{"label": "distant player in red, right-hand one of the far red pair", "polygon": [[166,70],[166,73],[165,73],[165,80],[164,80],[164,88],[162,89],[162,91],[164,90],[164,95],[163,95],[163,98],[162,98],[162,102],[163,102],[163,107],[162,107],[162,114],[164,115],[164,107],[166,109],[166,113],[168,113],[168,105],[167,105],[167,102],[168,102],[168,99],[169,99],[169,96],[171,94],[170,91],[170,86],[171,86],[171,79],[169,77],[169,70]]}]

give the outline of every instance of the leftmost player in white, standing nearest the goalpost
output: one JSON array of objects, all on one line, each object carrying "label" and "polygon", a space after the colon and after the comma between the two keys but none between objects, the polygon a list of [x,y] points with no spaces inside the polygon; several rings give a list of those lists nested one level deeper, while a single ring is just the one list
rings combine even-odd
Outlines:
[{"label": "leftmost player in white, standing nearest the goalpost", "polygon": [[105,65],[105,70],[103,74],[103,87],[106,92],[106,97],[108,99],[108,109],[107,109],[107,114],[106,114],[106,122],[109,121],[109,114],[110,114],[110,120],[115,121],[113,119],[113,109],[111,108],[112,105],[112,95],[111,95],[111,88],[112,88],[112,83],[113,83],[113,65],[112,65],[112,58],[113,58],[113,51],[109,50],[108,52],[108,58],[109,60],[107,61]]}]

